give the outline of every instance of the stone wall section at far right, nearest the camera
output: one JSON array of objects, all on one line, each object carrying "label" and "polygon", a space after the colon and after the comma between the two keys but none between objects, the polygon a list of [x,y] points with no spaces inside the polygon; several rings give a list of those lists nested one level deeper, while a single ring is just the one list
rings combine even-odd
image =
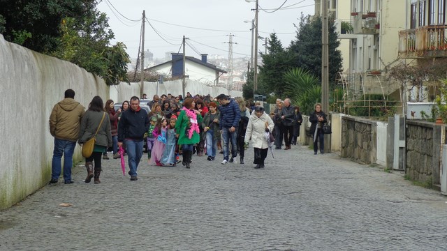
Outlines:
[{"label": "stone wall section at far right, nearest the camera", "polygon": [[405,174],[413,181],[439,184],[442,126],[406,121]]}]

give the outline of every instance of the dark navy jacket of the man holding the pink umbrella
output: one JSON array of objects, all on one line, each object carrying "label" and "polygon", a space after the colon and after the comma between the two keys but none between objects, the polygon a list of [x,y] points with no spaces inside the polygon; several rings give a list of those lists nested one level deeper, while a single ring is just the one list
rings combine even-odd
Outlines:
[{"label": "dark navy jacket of the man holding the pink umbrella", "polygon": [[135,112],[131,108],[122,113],[118,123],[118,142],[124,139],[142,140],[149,130],[149,116],[145,109]]}]

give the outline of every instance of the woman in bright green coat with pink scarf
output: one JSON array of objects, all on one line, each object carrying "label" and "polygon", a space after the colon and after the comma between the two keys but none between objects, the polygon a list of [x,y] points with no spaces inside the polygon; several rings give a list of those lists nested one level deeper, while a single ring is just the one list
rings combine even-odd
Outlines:
[{"label": "woman in bright green coat with pink scarf", "polygon": [[203,121],[200,112],[193,109],[195,105],[193,98],[185,98],[183,108],[180,110],[179,117],[175,123],[175,132],[179,139],[178,144],[182,145],[182,164],[186,168],[189,168],[191,163],[193,145],[200,141],[198,125]]}]

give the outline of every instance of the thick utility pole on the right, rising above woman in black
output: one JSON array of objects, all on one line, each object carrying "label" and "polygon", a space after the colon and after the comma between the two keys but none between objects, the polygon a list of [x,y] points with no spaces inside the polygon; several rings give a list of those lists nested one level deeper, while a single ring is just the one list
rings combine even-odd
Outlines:
[{"label": "thick utility pole on the right, rising above woman in black", "polygon": [[329,29],[328,29],[328,1],[322,1],[323,11],[321,19],[321,109],[329,112]]}]

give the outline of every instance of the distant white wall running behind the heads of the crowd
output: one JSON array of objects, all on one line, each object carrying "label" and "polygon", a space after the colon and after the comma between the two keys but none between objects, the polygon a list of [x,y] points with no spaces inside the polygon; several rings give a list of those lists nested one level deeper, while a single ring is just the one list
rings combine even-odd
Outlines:
[{"label": "distant white wall running behind the heads of the crowd", "polygon": [[[140,97],[140,83],[131,83],[126,84],[122,83],[117,86],[110,87],[110,98],[115,102],[122,102],[124,100],[130,100],[132,96]],[[147,94],[147,98],[152,100],[154,94],[168,94],[171,93],[174,96],[182,94],[182,80],[177,79],[173,81],[165,81],[163,84],[158,84],[158,93],[157,93],[157,83],[156,82],[145,82],[144,84],[144,93]],[[241,96],[242,91],[228,91],[223,87],[217,86],[207,86],[200,82],[194,82],[191,79],[186,79],[185,93],[191,93],[191,95],[207,95],[210,94],[212,97],[216,97],[221,93],[225,93],[232,97]]]}]

